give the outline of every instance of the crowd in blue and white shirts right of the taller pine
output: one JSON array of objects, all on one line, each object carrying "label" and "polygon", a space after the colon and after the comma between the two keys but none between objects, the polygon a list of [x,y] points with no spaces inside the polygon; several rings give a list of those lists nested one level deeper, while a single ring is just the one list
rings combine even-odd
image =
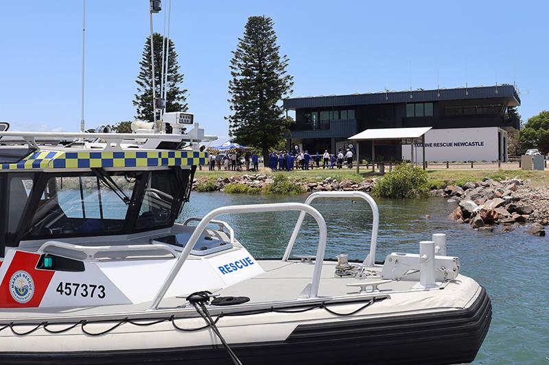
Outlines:
[{"label": "crowd in blue and white shirts right of the taller pine", "polygon": [[343,168],[344,164],[352,168],[354,157],[351,149],[347,149],[345,153],[342,149],[339,149],[337,154],[331,154],[326,149],[322,155],[318,151],[311,155],[307,150],[295,154],[288,151],[281,151],[280,153],[273,151],[269,153],[269,167],[273,171],[309,170],[315,167],[320,168],[320,162],[322,162],[322,168]]}]

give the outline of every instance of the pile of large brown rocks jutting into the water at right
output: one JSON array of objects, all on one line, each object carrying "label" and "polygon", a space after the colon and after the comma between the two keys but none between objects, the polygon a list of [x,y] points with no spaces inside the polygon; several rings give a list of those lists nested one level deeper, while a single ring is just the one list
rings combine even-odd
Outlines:
[{"label": "pile of large brown rocks jutting into the water at right", "polygon": [[469,223],[479,231],[511,231],[529,224],[527,232],[545,236],[549,224],[549,187],[524,184],[522,179],[468,181],[463,186],[446,186],[432,190],[432,196],[447,197],[458,204],[450,218]]}]

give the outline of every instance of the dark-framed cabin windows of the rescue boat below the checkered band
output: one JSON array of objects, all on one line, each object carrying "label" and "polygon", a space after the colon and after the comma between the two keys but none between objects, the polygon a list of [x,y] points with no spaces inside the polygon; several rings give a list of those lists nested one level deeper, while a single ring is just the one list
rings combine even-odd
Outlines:
[{"label": "dark-framed cabin windows of the rescue boat below the checkered band", "polygon": [[13,215],[9,243],[170,227],[188,199],[192,176],[180,168],[14,175],[10,210],[24,208],[25,214]]}]

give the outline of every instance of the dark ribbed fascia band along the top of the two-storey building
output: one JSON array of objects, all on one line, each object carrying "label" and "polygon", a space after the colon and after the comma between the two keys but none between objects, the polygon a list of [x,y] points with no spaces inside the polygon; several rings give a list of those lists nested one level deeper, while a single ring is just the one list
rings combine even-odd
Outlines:
[{"label": "dark ribbed fascia band along the top of the two-storey building", "polygon": [[[497,92],[496,92],[497,90]],[[410,95],[412,97],[410,98]],[[414,103],[417,101],[439,101],[457,99],[484,99],[493,97],[514,98],[520,103],[515,86],[482,86],[476,88],[452,88],[439,90],[412,90],[399,92],[377,92],[372,94],[334,95],[328,97],[301,97],[284,100],[284,108],[325,108],[346,105],[368,105],[384,103]]]}]

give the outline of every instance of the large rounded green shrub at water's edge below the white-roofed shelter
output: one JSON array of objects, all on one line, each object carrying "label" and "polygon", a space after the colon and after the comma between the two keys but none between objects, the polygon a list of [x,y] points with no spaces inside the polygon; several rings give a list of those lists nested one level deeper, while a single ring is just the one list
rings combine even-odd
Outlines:
[{"label": "large rounded green shrub at water's edge below the white-roofed shelter", "polygon": [[416,198],[424,197],[429,191],[427,171],[412,164],[399,164],[377,179],[373,194],[378,197]]}]

